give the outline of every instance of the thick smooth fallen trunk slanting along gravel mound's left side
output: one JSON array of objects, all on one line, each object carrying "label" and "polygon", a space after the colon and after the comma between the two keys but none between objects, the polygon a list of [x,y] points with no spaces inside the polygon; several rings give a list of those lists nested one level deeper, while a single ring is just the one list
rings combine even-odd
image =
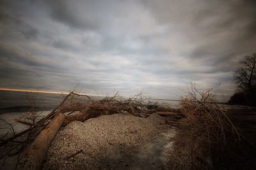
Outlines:
[{"label": "thick smooth fallen trunk slanting along gravel mound's left side", "polygon": [[16,169],[40,169],[46,157],[52,139],[61,127],[65,115],[56,115],[43,131],[38,134],[35,141],[24,150]]}]

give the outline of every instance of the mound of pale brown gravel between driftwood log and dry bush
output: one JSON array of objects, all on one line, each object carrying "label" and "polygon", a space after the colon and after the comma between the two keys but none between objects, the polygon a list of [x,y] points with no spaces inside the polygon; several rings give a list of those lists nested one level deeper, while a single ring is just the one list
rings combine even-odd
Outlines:
[{"label": "mound of pale brown gravel between driftwood log and dry bush", "polygon": [[[72,122],[58,132],[43,169],[166,169],[175,129],[159,115],[115,114]],[[79,150],[83,152],[67,159]]]}]

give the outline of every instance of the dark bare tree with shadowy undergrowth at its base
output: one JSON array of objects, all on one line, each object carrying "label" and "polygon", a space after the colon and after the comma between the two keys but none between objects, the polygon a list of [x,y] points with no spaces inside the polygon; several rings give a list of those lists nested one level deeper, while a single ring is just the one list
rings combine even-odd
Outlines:
[{"label": "dark bare tree with shadowy undergrowth at its base", "polygon": [[235,80],[239,91],[230,97],[230,104],[256,106],[256,53],[246,55],[236,69]]}]

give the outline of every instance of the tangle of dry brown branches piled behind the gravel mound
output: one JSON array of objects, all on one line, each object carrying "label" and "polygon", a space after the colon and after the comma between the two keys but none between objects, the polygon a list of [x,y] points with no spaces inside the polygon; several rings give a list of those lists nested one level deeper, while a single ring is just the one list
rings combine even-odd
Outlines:
[{"label": "tangle of dry brown branches piled behind the gravel mound", "polygon": [[80,98],[75,99],[72,96],[69,97],[67,102],[63,104],[61,109],[62,113],[70,112],[70,114],[72,114],[74,111],[81,111],[84,113],[94,110],[95,112],[100,112],[100,115],[128,112],[132,115],[140,116],[152,113],[153,110],[148,109],[150,108],[149,106],[157,105],[157,102],[153,99],[143,97],[141,93],[127,99],[118,96],[118,92],[111,97],[106,96],[99,100],[93,100],[89,96],[76,93],[74,93],[73,96]]}]

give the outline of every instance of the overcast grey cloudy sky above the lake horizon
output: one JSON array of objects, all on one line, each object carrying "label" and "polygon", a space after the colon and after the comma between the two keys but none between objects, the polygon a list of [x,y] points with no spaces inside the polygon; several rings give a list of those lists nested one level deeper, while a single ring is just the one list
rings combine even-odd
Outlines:
[{"label": "overcast grey cloudy sky above the lake horizon", "polygon": [[256,1],[0,0],[0,88],[179,99],[236,90]]}]

